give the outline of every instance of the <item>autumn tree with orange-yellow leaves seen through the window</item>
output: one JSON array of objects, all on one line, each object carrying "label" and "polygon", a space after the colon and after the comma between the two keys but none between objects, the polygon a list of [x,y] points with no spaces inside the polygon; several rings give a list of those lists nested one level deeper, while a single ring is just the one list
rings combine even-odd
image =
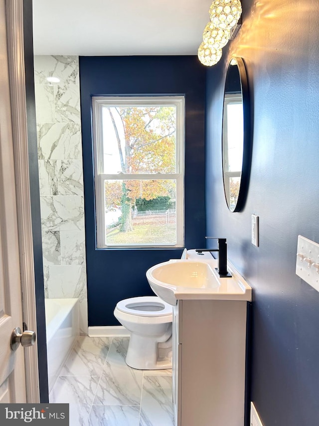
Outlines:
[{"label": "autumn tree with orange-yellow leaves seen through the window", "polygon": [[[123,174],[175,172],[175,108],[171,106],[106,107],[116,138]],[[107,181],[108,204],[121,205],[120,231],[133,230],[132,207],[138,198],[172,196],[171,180]]]}]

